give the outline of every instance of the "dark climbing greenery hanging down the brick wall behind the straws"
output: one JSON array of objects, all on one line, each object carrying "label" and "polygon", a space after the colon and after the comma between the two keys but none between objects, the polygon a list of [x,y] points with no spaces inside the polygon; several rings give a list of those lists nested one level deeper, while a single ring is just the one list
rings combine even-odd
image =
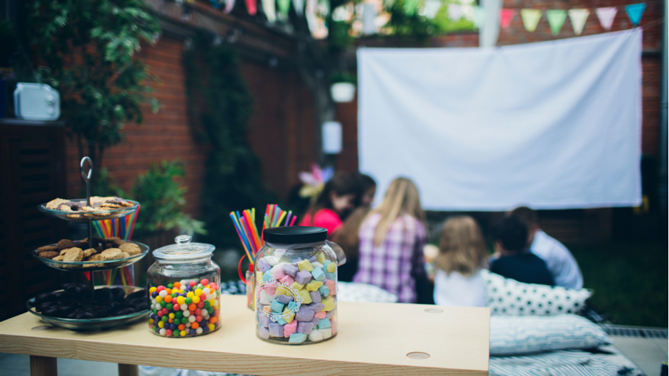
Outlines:
[{"label": "dark climbing greenery hanging down the brick wall behind the straws", "polygon": [[239,247],[229,213],[254,207],[262,213],[264,205],[275,202],[246,138],[253,100],[237,55],[225,45],[213,45],[210,38],[197,35],[183,60],[192,126],[209,150],[201,196],[206,240],[218,247]]}]

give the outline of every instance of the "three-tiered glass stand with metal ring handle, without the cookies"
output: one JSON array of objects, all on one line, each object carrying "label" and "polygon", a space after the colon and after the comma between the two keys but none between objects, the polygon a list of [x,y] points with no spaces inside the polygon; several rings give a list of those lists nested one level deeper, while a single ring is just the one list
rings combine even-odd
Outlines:
[{"label": "three-tiered glass stand with metal ring handle, without the cookies", "polygon": [[[85,171],[85,164],[88,162],[89,170]],[[86,203],[90,206],[90,178],[93,173],[93,163],[90,158],[87,156],[81,160],[80,163],[81,175],[86,182]],[[76,199],[75,199],[76,200]],[[83,199],[78,199],[83,200]],[[73,200],[74,201],[74,200]],[[88,245],[82,244],[82,242],[75,241],[75,244],[82,245],[81,248],[94,248],[93,243],[93,225],[92,221],[94,220],[109,220],[113,218],[125,217],[126,215],[131,215],[137,211],[139,208],[139,203],[137,201],[127,200],[130,203],[133,203],[132,206],[118,209],[105,209],[97,212],[79,212],[79,211],[65,211],[65,210],[51,210],[46,208],[46,203],[38,205],[37,209],[41,211],[44,215],[48,217],[58,218],[60,220],[68,220],[75,222],[88,222]],[[138,262],[140,259],[144,258],[146,254],[149,254],[149,246],[142,244],[140,242],[132,242],[139,246],[141,252],[139,254],[134,254],[131,257],[125,259],[113,259],[105,261],[79,261],[79,262],[67,262],[67,261],[58,261],[53,259],[46,259],[44,257],[38,256],[37,249],[33,249],[32,255],[36,259],[40,260],[49,267],[62,270],[65,272],[90,272],[89,284],[92,294],[92,300],[95,296],[94,289],[94,278],[93,273],[100,270],[109,270],[116,269],[119,267],[127,267],[128,265]],[[102,286],[100,286],[102,287]],[[137,286],[105,286],[105,287],[123,287],[126,290],[126,294],[132,293],[134,291],[139,291],[141,288]],[[38,316],[42,321],[46,323],[53,324],[55,326],[61,326],[63,328],[70,329],[100,329],[100,328],[112,328],[114,326],[121,326],[132,321],[136,321],[139,318],[146,317],[149,313],[149,310],[135,312],[130,315],[125,316],[114,316],[114,317],[105,317],[105,318],[90,318],[90,319],[74,319],[74,318],[58,318],[53,316],[44,316],[35,311],[35,299],[28,300],[27,306],[28,311]]]}]

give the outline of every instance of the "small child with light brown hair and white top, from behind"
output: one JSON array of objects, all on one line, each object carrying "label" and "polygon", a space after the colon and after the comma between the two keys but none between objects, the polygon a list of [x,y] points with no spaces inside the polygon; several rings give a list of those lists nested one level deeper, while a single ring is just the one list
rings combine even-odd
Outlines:
[{"label": "small child with light brown hair and white top, from behind", "polygon": [[451,217],[441,229],[439,254],[434,260],[434,303],[440,306],[482,307],[486,285],[486,245],[476,220],[466,215]]}]

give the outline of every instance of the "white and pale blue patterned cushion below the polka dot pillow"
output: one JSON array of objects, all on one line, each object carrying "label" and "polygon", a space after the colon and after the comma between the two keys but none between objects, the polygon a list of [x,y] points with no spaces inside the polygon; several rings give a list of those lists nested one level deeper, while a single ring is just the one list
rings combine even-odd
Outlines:
[{"label": "white and pale blue patterned cushion below the polka dot pillow", "polygon": [[609,344],[606,333],[576,315],[491,316],[490,355],[594,348]]}]

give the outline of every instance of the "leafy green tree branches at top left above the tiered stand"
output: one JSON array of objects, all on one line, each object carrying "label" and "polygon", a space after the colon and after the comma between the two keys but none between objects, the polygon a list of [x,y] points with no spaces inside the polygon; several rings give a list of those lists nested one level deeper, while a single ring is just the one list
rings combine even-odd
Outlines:
[{"label": "leafy green tree branches at top left above the tiered stand", "polygon": [[141,104],[159,107],[147,96],[152,77],[134,57],[140,41],[156,41],[158,18],[144,0],[30,0],[26,8],[33,50],[49,71],[43,80],[60,92],[80,153],[83,139],[99,167],[104,149],[123,140],[124,124],[141,124]]}]

